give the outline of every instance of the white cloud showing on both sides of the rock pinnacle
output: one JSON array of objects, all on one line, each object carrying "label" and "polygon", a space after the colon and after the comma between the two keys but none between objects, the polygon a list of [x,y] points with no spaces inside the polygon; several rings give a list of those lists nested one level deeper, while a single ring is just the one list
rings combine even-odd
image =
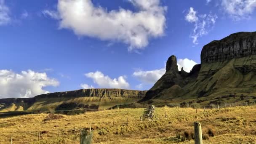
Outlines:
[{"label": "white cloud showing on both sides of the rock pinnacle", "polygon": [[[181,67],[183,67],[183,70],[186,72],[190,72],[190,70],[194,67],[194,65],[197,64],[193,60],[189,59],[178,59],[177,65],[178,69],[181,70]],[[136,88],[140,88],[143,86],[143,84],[154,84],[157,82],[157,80],[160,79],[160,77],[165,74],[165,68],[162,69],[155,69],[155,70],[137,70],[133,72],[133,77],[136,77],[142,84],[136,85]]]}]

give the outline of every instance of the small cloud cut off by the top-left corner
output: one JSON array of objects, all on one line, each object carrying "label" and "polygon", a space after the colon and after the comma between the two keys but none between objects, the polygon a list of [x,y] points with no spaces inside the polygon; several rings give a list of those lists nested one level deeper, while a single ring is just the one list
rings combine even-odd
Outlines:
[{"label": "small cloud cut off by the top-left corner", "polygon": [[9,8],[5,5],[4,0],[0,0],[0,25],[5,25],[11,22],[11,17],[9,16]]}]

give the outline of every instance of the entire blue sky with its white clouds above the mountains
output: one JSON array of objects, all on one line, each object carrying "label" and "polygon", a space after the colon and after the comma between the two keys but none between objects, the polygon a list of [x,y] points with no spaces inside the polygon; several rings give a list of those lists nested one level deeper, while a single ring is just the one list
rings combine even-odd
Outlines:
[{"label": "entire blue sky with its white clouds above the mountains", "polygon": [[148,90],[175,55],[256,31],[256,0],[0,0],[0,98],[81,88]]}]

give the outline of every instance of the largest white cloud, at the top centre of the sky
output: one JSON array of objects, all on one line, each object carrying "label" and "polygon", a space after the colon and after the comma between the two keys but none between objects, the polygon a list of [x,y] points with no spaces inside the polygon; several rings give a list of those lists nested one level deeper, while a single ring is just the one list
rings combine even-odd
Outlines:
[{"label": "largest white cloud, at the top centre of the sky", "polygon": [[128,0],[136,12],[93,5],[91,0],[59,0],[57,12],[43,13],[59,19],[59,28],[72,29],[76,35],[100,40],[120,41],[128,50],[143,49],[150,37],[160,37],[165,31],[165,11],[160,0]]}]

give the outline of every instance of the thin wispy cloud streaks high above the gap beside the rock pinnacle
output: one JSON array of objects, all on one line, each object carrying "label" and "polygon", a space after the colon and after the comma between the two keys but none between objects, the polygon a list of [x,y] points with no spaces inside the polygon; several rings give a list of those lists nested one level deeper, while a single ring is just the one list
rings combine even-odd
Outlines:
[{"label": "thin wispy cloud streaks high above the gap beside the rock pinnacle", "polygon": [[207,35],[216,22],[218,16],[216,14],[201,14],[197,16],[197,11],[194,8],[190,8],[189,12],[185,16],[185,20],[194,24],[194,29],[190,37],[193,39],[194,44],[198,44],[198,37]]}]

